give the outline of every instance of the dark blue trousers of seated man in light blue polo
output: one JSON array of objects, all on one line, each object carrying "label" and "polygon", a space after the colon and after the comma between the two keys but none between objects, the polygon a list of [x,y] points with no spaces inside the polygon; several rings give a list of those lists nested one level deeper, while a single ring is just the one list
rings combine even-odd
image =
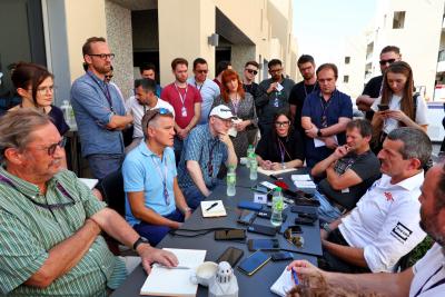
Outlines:
[{"label": "dark blue trousers of seated man in light blue polo", "polygon": [[[184,215],[176,209],[174,212],[165,216],[165,218],[175,220],[175,221],[184,221]],[[132,228],[142,237],[147,238],[151,246],[156,246],[160,240],[167,235],[170,227],[162,225],[151,225],[149,222],[141,221],[132,226]]]}]

